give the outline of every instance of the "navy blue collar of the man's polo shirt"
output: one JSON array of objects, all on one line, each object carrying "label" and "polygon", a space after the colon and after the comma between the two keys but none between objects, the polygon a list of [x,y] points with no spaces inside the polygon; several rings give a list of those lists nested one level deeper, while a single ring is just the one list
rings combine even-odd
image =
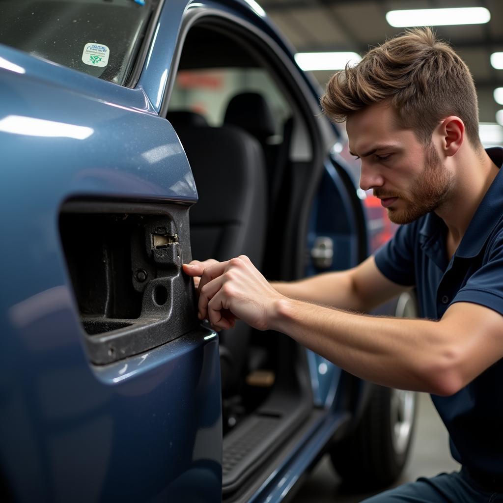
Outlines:
[{"label": "navy blue collar of the man's polo shirt", "polygon": [[[486,152],[496,166],[503,167],[503,148],[487,148]],[[475,211],[455,255],[462,258],[477,256],[502,215],[503,170],[500,170]],[[433,211],[423,219],[419,233],[423,246],[427,247],[438,242],[447,226]]]}]

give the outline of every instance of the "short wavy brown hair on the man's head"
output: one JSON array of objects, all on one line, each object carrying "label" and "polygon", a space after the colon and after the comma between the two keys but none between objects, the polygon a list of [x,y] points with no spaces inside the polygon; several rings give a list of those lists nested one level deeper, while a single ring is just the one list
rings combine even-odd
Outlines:
[{"label": "short wavy brown hair on the man's head", "polygon": [[400,125],[425,144],[443,118],[456,115],[472,146],[480,147],[473,77],[431,28],[409,30],[370,50],[357,65],[346,65],[331,77],[321,105],[332,121],[343,122],[385,100],[391,101]]}]

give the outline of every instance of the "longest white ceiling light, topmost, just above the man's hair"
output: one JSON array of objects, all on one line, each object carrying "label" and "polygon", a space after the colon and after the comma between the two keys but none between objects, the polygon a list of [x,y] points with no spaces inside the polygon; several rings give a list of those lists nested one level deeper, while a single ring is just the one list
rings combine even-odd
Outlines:
[{"label": "longest white ceiling light, topmost, just above the man's hair", "polygon": [[389,11],[386,21],[396,28],[405,26],[478,25],[487,23],[491,13],[485,7],[456,9],[414,9]]}]

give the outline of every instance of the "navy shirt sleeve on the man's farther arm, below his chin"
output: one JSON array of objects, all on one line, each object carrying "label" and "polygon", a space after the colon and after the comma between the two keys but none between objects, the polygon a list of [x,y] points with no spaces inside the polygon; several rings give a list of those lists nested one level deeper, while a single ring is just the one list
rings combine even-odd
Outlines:
[{"label": "navy shirt sleeve on the man's farther arm, below his chin", "polygon": [[414,286],[414,242],[417,222],[401,225],[374,254],[377,268],[393,283]]}]

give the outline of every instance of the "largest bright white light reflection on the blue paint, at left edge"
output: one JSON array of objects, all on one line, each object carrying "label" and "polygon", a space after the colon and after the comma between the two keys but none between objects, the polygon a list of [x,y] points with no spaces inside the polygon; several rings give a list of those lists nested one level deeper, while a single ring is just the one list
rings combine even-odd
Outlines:
[{"label": "largest bright white light reflection on the blue paint, at left edge", "polygon": [[8,115],[0,120],[0,131],[27,136],[63,137],[74,138],[76,140],[85,140],[94,133],[94,129],[90,127],[46,121],[44,119],[23,117],[21,115]]}]

